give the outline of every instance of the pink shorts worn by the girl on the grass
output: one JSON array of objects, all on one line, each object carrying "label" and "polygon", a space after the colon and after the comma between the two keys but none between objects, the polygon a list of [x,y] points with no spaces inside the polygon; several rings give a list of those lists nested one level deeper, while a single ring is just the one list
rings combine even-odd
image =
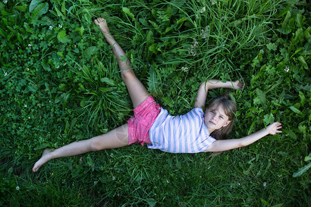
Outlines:
[{"label": "pink shorts worn by the girl on the grass", "polygon": [[133,143],[151,144],[149,139],[149,129],[158,117],[161,108],[150,95],[140,105],[134,108],[134,117],[131,117],[129,124],[129,145]]}]

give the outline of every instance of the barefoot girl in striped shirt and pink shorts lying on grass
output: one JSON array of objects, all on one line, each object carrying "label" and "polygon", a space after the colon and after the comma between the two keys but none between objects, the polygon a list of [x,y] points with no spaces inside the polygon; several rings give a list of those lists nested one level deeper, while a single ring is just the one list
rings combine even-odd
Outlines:
[{"label": "barefoot girl in striped shirt and pink shorts lying on grass", "polygon": [[198,88],[194,109],[186,115],[176,117],[169,115],[167,110],[156,103],[135,76],[129,59],[124,61],[125,53],[111,35],[106,20],[98,18],[94,22],[100,26],[106,41],[113,47],[121,77],[133,102],[134,116],[123,126],[104,135],[75,141],[55,150],[44,150],[42,157],[33,166],[33,172],[37,172],[50,159],[120,148],[133,143],[142,145],[146,143],[148,148],[171,153],[220,152],[247,146],[266,135],[281,132],[279,130],[282,128],[281,123],[275,122],[241,139],[220,140],[232,130],[234,112],[236,112],[234,102],[227,96],[222,96],[211,101],[205,112],[202,106],[205,106],[207,91],[210,89],[242,89],[244,85],[238,80],[233,83],[229,81],[223,83],[218,80],[205,81]]}]

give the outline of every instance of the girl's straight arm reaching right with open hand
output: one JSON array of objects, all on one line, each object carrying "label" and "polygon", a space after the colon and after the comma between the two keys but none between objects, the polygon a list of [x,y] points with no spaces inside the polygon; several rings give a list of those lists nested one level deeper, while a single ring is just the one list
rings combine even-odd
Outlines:
[{"label": "girl's straight arm reaching right with open hand", "polygon": [[252,135],[248,135],[240,139],[216,140],[205,151],[220,152],[225,150],[232,150],[234,148],[241,148],[243,146],[252,144],[258,139],[265,137],[266,135],[275,135],[276,133],[281,133],[282,131],[279,130],[280,128],[282,128],[282,124],[279,122],[274,122],[273,124],[267,126],[267,128],[263,128],[262,130],[259,130]]}]

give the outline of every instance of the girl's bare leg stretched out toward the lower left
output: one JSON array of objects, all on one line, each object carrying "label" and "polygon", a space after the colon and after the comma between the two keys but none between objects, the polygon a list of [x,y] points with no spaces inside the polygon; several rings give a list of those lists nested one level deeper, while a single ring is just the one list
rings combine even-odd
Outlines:
[{"label": "girl's bare leg stretched out toward the lower left", "polygon": [[129,145],[129,130],[128,125],[124,124],[104,135],[82,141],[75,141],[55,150],[44,150],[42,157],[35,163],[32,171],[37,172],[43,164],[51,159],[81,155],[91,151],[120,148],[127,145]]}]

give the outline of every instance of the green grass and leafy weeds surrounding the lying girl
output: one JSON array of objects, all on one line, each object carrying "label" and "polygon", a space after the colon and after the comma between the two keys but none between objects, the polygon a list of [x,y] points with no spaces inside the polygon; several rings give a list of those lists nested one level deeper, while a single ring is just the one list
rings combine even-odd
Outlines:
[{"label": "green grass and leafy weeds surrounding the lying girl", "polygon": [[[0,10],[1,206],[310,203],[306,1],[32,0],[1,1]],[[192,108],[202,81],[242,77],[243,91],[209,92],[236,101],[230,138],[273,121],[283,133],[216,157],[131,145],[52,160],[32,173],[44,148],[100,135],[133,115],[97,17],[171,114]]]}]

